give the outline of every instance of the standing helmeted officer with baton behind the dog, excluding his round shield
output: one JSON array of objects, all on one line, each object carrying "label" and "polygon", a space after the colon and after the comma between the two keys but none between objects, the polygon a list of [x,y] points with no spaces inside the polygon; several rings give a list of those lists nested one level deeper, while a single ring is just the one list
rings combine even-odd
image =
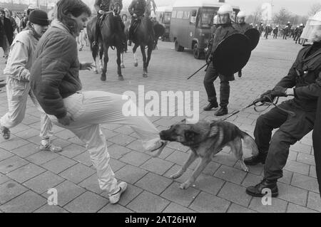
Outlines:
[{"label": "standing helmeted officer with baton behind the dog, excluding his round shield", "polygon": [[228,114],[228,99],[230,97],[230,83],[229,81],[235,80],[234,75],[221,75],[218,73],[218,70],[213,65],[212,56],[215,49],[218,47],[220,41],[223,41],[224,38],[232,35],[233,33],[238,33],[238,31],[232,26],[231,16],[233,13],[232,6],[224,4],[218,9],[218,23],[220,27],[215,31],[215,38],[213,41],[213,48],[210,56],[210,64],[208,70],[206,71],[204,78],[204,87],[206,93],[208,94],[208,104],[204,108],[205,111],[212,110],[213,108],[218,107],[218,101],[216,98],[216,92],[214,87],[214,80],[220,77],[220,110],[215,113],[216,116],[223,116]]}]

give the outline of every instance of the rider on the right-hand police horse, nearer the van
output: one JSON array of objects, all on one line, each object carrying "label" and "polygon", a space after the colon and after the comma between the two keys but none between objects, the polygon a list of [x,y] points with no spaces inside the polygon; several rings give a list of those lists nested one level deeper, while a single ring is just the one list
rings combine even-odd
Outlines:
[{"label": "rider on the right-hand police horse, nearer the van", "polygon": [[[138,26],[138,23],[140,22],[141,18],[146,13],[146,8],[147,8],[146,0],[133,0],[131,2],[131,5],[128,6],[128,12],[129,14],[131,14],[131,26],[129,28],[129,34],[128,34],[128,40],[129,40],[128,46],[131,46],[131,43],[133,41],[134,30]],[[153,40],[155,41],[155,34],[154,34],[152,23],[150,23],[150,31],[151,31]]]}]

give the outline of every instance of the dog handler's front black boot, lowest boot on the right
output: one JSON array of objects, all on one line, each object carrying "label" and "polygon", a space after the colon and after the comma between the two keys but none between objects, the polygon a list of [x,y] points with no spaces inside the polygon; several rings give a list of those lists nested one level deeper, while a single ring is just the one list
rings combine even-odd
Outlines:
[{"label": "dog handler's front black boot, lowest boot on the right", "polygon": [[277,180],[270,181],[267,179],[263,179],[260,184],[257,184],[255,186],[249,186],[246,189],[246,194],[254,197],[263,197],[265,196],[265,194],[262,193],[263,189],[270,189],[272,197],[276,197],[279,194],[277,189]]}]

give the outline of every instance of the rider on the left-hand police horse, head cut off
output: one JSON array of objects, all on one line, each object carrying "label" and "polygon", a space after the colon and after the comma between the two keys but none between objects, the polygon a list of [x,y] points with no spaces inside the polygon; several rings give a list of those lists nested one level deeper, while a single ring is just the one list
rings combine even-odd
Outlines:
[{"label": "rider on the left-hand police horse, head cut off", "polygon": [[[97,11],[97,21],[96,21],[96,29],[95,29],[95,37],[94,37],[94,41],[92,43],[93,47],[98,47],[98,40],[99,40],[99,33],[100,33],[100,22],[101,22],[101,16],[103,16],[104,14],[106,14],[106,12],[108,11],[114,11],[115,9],[113,9],[114,7],[114,3],[116,2],[116,0],[96,0],[95,4],[93,5]],[[116,12],[117,14],[116,19],[118,20],[118,25],[121,26],[121,28],[119,29],[124,29],[124,25],[123,25],[123,21],[121,19],[121,16],[119,16],[119,13],[121,12],[121,9],[123,9],[123,2],[122,1],[117,1],[120,4],[120,8],[118,10],[118,12]],[[123,41],[125,42],[125,41]]]}]

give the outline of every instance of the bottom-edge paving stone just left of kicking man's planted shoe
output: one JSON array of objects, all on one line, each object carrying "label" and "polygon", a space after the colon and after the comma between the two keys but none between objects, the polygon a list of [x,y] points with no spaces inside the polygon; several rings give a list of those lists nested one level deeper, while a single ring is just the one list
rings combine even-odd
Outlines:
[{"label": "bottom-edge paving stone just left of kicking man's planted shoe", "polygon": [[102,196],[86,191],[66,206],[63,206],[63,208],[72,213],[94,213],[103,208],[107,203],[108,200]]}]

